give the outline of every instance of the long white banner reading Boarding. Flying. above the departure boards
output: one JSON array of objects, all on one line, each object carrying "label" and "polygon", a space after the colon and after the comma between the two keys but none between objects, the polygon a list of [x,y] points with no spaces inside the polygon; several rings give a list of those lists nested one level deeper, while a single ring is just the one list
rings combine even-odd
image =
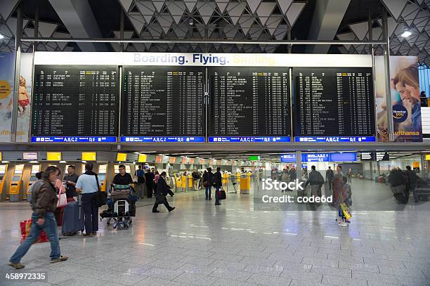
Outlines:
[{"label": "long white banner reading Boarding. Flying. above the departure boards", "polygon": [[34,65],[372,67],[370,55],[305,53],[36,52]]}]

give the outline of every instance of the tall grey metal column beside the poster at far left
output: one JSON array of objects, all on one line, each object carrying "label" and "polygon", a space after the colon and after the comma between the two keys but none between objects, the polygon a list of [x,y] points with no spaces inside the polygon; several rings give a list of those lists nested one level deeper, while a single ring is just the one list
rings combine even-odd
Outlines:
[{"label": "tall grey metal column beside the poster at far left", "polygon": [[21,39],[22,39],[22,11],[20,6],[17,8],[16,34],[15,34],[15,77],[13,79],[12,96],[12,126],[11,141],[16,142],[16,129],[18,121],[18,93],[20,91],[20,63],[21,63]]}]

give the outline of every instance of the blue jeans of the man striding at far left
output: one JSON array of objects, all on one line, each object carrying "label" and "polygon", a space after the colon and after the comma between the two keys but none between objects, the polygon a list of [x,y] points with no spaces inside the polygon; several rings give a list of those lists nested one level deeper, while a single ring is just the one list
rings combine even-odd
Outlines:
[{"label": "blue jeans of the man striding at far left", "polygon": [[16,249],[15,253],[12,255],[11,261],[12,263],[19,263],[28,249],[32,246],[32,244],[39,238],[41,230],[45,230],[48,235],[49,242],[51,242],[51,259],[57,259],[60,257],[60,240],[58,240],[58,231],[57,231],[57,222],[56,217],[52,212],[48,212],[45,214],[45,223],[39,226],[37,222],[37,214],[32,214],[32,228],[30,230],[30,235],[25,238],[22,244]]}]

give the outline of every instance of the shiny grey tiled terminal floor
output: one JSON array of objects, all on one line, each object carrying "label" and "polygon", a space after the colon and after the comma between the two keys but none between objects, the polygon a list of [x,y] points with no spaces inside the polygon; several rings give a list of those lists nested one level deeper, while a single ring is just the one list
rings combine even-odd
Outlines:
[{"label": "shiny grey tiled terminal floor", "polygon": [[[398,208],[382,184],[357,180],[353,191],[357,204]],[[5,282],[13,272],[46,273],[28,285],[430,285],[430,202],[360,210],[341,227],[330,207],[260,212],[252,197],[228,194],[214,206],[203,190],[177,193],[169,197],[174,212],[160,205],[159,214],[145,200],[128,230],[102,221],[94,238],[62,238],[70,259],[59,264],[49,263],[48,243],[34,245],[20,271],[6,263],[30,208],[2,202],[0,285],[26,284]]]}]

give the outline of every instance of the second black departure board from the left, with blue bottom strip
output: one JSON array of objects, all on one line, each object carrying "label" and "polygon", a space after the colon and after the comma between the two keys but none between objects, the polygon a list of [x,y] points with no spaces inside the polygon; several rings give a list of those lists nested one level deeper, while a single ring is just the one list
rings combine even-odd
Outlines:
[{"label": "second black departure board from the left, with blue bottom strip", "polygon": [[124,67],[122,142],[204,142],[204,67]]}]

